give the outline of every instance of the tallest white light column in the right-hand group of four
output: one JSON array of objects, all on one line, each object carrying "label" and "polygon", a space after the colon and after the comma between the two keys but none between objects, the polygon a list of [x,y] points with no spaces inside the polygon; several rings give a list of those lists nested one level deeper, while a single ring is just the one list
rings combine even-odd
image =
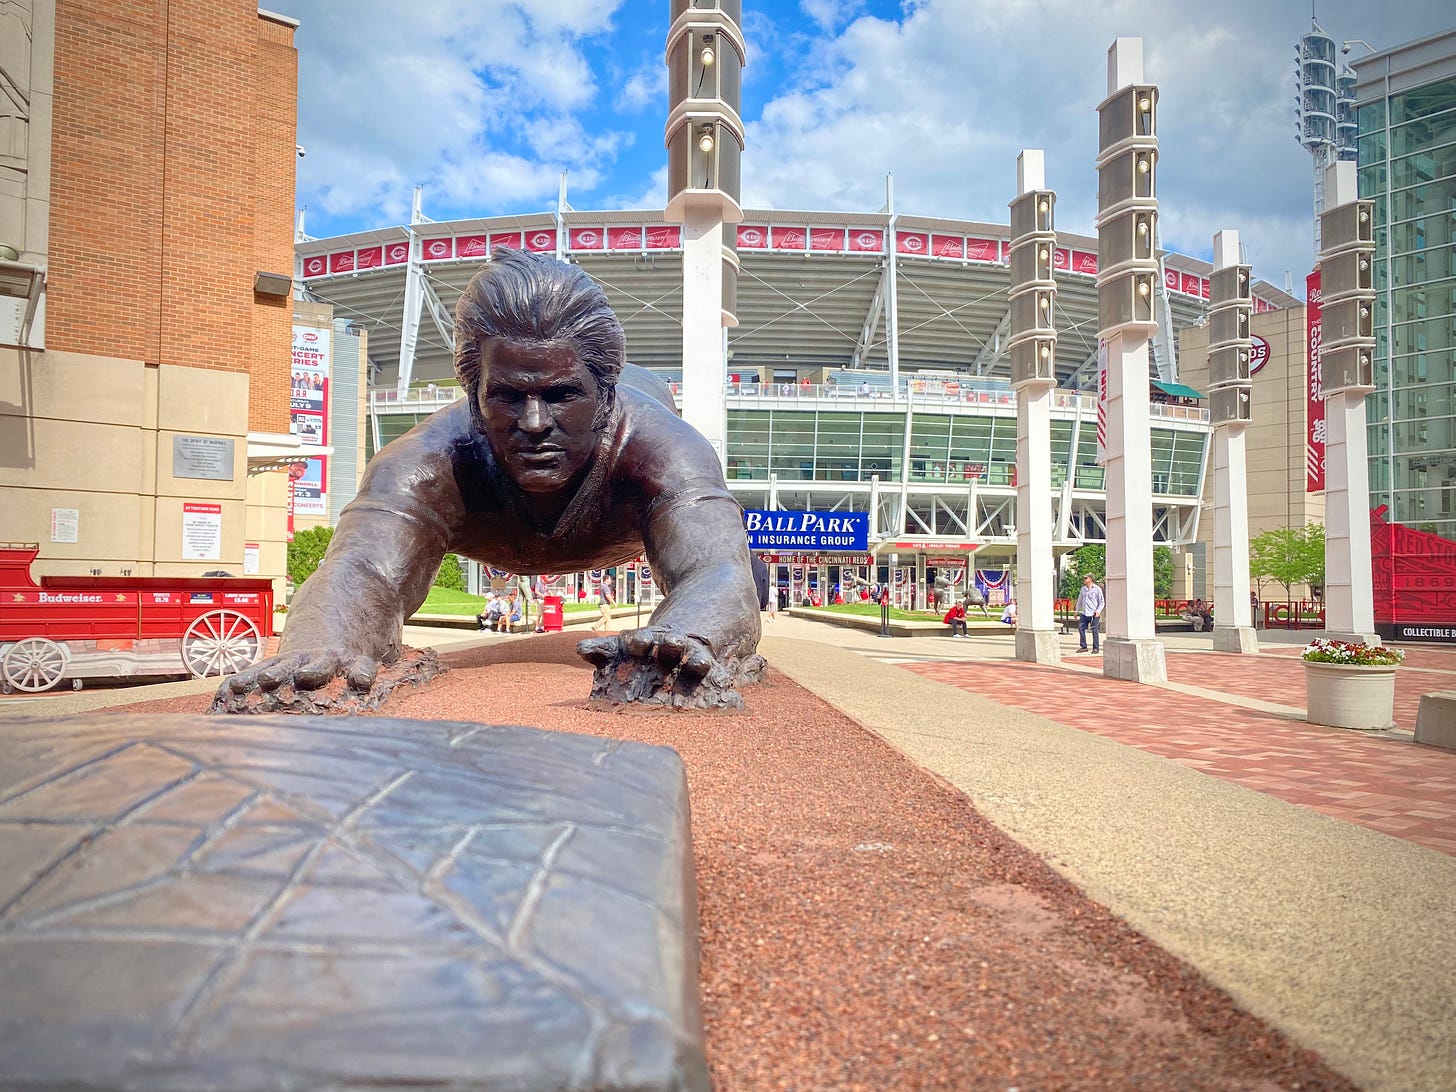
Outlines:
[{"label": "tallest white light column in the right-hand group of four", "polygon": [[1102,673],[1168,678],[1153,613],[1147,341],[1158,331],[1158,89],[1143,41],[1118,38],[1098,106],[1098,335],[1107,344],[1107,639]]}]

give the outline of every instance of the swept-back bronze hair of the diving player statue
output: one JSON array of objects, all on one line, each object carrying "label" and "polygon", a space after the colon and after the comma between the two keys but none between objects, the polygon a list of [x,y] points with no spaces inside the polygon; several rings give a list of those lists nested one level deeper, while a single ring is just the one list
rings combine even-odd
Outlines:
[{"label": "swept-back bronze hair of the diving player statue", "polygon": [[480,347],[491,338],[569,344],[597,380],[603,415],[610,409],[626,338],[607,294],[575,265],[498,246],[466,285],[456,304],[454,363],[479,428]]}]

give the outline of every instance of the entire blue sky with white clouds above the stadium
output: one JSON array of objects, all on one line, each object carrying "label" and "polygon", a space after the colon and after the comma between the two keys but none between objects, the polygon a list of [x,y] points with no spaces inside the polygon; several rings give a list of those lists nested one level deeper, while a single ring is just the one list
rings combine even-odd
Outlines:
[{"label": "entire blue sky with white clouds above the stadium", "polygon": [[[668,0],[274,0],[300,20],[300,208],[326,237],[556,207],[661,208]],[[1383,9],[1383,10],[1382,10]],[[1444,0],[1315,7],[1383,50],[1456,23]],[[1016,153],[1044,149],[1057,223],[1093,234],[1107,48],[1142,36],[1160,87],[1163,246],[1210,256],[1236,229],[1296,294],[1312,160],[1293,47],[1310,6],[1163,0],[744,0],[744,207],[1006,221]],[[1367,50],[1353,45],[1351,55]]]}]

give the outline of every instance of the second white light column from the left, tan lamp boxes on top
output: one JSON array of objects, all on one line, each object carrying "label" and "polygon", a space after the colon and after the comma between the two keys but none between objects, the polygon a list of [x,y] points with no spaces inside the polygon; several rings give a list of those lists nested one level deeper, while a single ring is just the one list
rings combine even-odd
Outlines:
[{"label": "second white light column from the left, tan lamp boxes on top", "polygon": [[1016,157],[1010,202],[1010,377],[1016,389],[1016,658],[1061,661],[1051,568],[1051,389],[1057,386],[1053,275],[1057,195],[1045,153]]}]

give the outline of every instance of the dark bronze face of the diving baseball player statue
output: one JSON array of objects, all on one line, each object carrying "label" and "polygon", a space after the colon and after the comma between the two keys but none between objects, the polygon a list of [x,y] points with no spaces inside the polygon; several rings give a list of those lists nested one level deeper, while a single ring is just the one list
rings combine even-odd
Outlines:
[{"label": "dark bronze face of the diving baseball player statue", "polygon": [[523,491],[565,489],[591,459],[601,390],[569,345],[489,341],[476,397],[491,451]]}]

